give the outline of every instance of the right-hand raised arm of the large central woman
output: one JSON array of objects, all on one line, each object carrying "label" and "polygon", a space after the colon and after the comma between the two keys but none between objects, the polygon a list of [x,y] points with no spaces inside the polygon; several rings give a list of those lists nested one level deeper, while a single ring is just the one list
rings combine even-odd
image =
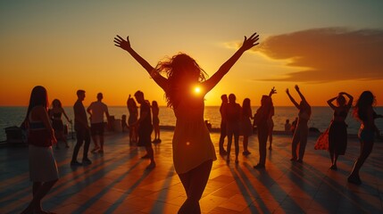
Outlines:
[{"label": "right-hand raised arm of the large central woman", "polygon": [[254,33],[251,37],[244,38],[244,43],[237,50],[237,52],[234,53],[227,62],[221,65],[220,69],[212,75],[212,78],[209,78],[204,82],[206,92],[212,90],[212,88],[220,82],[221,78],[223,78],[223,76],[225,76],[225,74],[229,72],[231,67],[233,67],[233,65],[237,62],[237,60],[242,56],[243,53],[245,53],[247,50],[254,47],[255,45],[259,44],[257,43],[258,39],[259,35],[257,35],[256,33]]}]

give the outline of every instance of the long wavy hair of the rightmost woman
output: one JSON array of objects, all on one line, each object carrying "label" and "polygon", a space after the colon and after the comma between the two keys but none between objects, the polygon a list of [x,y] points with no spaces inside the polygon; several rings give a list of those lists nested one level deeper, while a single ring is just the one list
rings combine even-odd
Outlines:
[{"label": "long wavy hair of the rightmost woman", "polygon": [[376,99],[371,91],[363,91],[354,105],[353,115],[357,119],[367,119],[367,109],[375,105]]}]

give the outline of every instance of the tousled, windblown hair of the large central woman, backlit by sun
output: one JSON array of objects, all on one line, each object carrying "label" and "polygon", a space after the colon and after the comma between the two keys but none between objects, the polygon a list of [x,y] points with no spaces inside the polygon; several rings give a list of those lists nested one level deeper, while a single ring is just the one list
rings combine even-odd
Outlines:
[{"label": "tousled, windblown hair of the large central woman, backlit by sun", "polygon": [[[177,108],[179,101],[187,95],[189,82],[206,80],[207,74],[198,63],[186,53],[178,53],[173,57],[158,62],[155,70],[166,73],[169,85],[165,89],[165,99],[168,107]],[[187,78],[187,79],[185,79]]]}]

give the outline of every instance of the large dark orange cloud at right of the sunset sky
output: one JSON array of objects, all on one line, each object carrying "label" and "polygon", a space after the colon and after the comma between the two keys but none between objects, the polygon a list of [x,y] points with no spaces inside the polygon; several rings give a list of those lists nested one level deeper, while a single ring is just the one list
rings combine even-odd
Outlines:
[{"label": "large dark orange cloud at right of the sunset sky", "polygon": [[271,59],[287,60],[294,82],[383,79],[383,29],[307,29],[267,37],[257,48]]}]

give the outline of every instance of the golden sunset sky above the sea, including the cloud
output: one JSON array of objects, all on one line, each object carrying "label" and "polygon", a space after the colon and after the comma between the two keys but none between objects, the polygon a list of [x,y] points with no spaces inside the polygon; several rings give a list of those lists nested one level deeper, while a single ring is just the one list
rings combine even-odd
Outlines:
[{"label": "golden sunset sky above the sea, including the cloud", "polygon": [[103,92],[104,103],[125,105],[137,90],[165,105],[163,91],[133,58],[113,45],[130,38],[152,66],[166,56],[191,55],[210,75],[257,32],[246,52],[205,99],[248,97],[259,105],[292,105],[297,84],[313,106],[346,91],[355,99],[371,90],[383,105],[383,1],[0,1],[0,105],[29,103],[34,86],[50,100],[85,105]]}]

